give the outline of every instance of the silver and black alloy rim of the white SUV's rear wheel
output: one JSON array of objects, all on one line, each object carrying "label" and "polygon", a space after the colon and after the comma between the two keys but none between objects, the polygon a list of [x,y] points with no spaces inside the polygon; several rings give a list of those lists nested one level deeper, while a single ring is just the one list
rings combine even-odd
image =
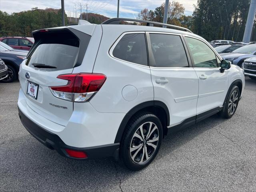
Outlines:
[{"label": "silver and black alloy rim of the white SUV's rear wheel", "polygon": [[154,154],[159,140],[159,131],[156,124],[146,122],[142,124],[132,136],[130,156],[135,163],[144,163]]}]

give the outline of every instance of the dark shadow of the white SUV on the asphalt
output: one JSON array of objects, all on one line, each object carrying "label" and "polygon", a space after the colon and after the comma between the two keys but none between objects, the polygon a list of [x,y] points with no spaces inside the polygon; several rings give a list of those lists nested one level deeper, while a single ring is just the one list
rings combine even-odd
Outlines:
[{"label": "dark shadow of the white SUV on the asphalt", "polygon": [[[162,142],[160,152],[147,168],[138,172],[127,170],[120,166],[113,158],[73,160],[60,156],[55,150],[50,150],[33,138],[30,134],[14,139],[15,148],[11,149],[8,144],[2,143],[2,159],[15,158],[9,164],[2,161],[2,173],[10,172],[8,166],[12,166],[11,173],[18,179],[23,187],[28,188],[32,183],[39,183],[33,186],[34,190],[47,190],[47,186],[55,185],[59,190],[82,190],[85,187],[88,191],[113,189],[120,186],[134,174],[146,172],[147,169],[154,169],[154,164],[164,156],[190,142],[206,130],[212,129],[222,123],[223,119],[214,115],[203,122],[190,126],[179,132],[166,136]],[[21,129],[25,129],[21,126]],[[12,152],[11,152],[12,151]],[[11,154],[10,154],[11,153]],[[8,157],[9,156],[9,157]],[[150,168],[151,167],[151,168]],[[15,172],[12,172],[15,170]],[[70,188],[70,183],[73,187]],[[90,188],[91,187],[91,188]]]}]

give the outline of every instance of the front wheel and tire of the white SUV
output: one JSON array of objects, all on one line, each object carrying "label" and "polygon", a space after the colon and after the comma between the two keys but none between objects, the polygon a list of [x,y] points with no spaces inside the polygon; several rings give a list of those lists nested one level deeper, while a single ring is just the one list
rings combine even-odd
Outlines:
[{"label": "front wheel and tire of the white SUV", "polygon": [[223,118],[231,118],[237,109],[238,102],[240,98],[240,91],[238,86],[234,85],[230,92],[228,93],[228,97],[224,102],[224,106],[222,110],[219,112],[220,116]]}]

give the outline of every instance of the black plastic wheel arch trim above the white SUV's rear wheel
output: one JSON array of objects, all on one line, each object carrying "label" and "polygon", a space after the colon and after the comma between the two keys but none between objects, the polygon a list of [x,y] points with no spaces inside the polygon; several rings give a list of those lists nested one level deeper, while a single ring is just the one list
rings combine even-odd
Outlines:
[{"label": "black plastic wheel arch trim above the white SUV's rear wheel", "polygon": [[119,128],[118,128],[118,131],[117,131],[117,134],[116,134],[116,138],[115,138],[115,143],[118,143],[121,141],[121,138],[122,138],[122,135],[123,135],[123,132],[124,132],[124,129],[128,123],[128,121],[130,120],[130,118],[136,114],[138,111],[146,108],[146,107],[152,107],[152,106],[155,106],[155,107],[160,107],[160,108],[163,108],[164,111],[166,112],[166,120],[167,120],[167,125],[170,124],[170,113],[169,113],[169,110],[168,110],[168,107],[166,106],[166,104],[164,104],[164,102],[162,101],[146,101],[146,102],[143,102],[143,103],[140,103],[138,105],[136,105],[134,108],[132,108],[123,118]]}]

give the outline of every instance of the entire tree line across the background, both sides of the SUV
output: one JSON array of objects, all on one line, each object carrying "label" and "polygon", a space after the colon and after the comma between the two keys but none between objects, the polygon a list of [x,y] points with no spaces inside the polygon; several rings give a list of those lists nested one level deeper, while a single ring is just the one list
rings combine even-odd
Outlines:
[{"label": "entire tree line across the background, both sides of the SUV", "polygon": [[[191,16],[184,14],[184,6],[172,1],[168,5],[168,24],[186,27],[206,40],[242,41],[250,0],[198,0]],[[138,19],[163,22],[164,3],[155,10],[147,8],[140,11]],[[86,13],[82,13],[86,19]],[[88,13],[88,21],[95,24],[107,20],[100,14]],[[67,24],[75,23],[75,18],[68,18]],[[77,19],[78,22],[78,19]],[[137,24],[137,23],[133,23]],[[32,31],[62,26],[61,10],[46,8],[8,14],[0,11],[0,36],[32,36]],[[252,41],[256,41],[256,22],[254,22]]]}]

